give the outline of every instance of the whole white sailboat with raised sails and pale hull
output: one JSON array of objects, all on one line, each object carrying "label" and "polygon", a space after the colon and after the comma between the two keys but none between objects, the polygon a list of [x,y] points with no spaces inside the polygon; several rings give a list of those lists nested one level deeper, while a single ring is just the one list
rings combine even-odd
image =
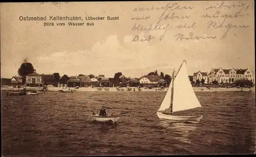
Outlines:
[{"label": "whole white sailboat with raised sails and pale hull", "polygon": [[186,69],[186,61],[183,60],[176,77],[173,77],[164,99],[157,110],[159,119],[174,121],[199,122],[203,116],[174,116],[173,113],[182,110],[202,107],[197,99],[193,87],[189,81]]}]

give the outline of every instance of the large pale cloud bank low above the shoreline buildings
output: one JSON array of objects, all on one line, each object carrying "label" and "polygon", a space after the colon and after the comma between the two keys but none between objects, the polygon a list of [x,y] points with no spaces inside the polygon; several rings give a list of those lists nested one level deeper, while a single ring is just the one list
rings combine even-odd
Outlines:
[{"label": "large pale cloud bank low above the shoreline buildings", "polygon": [[[143,33],[140,34],[143,36]],[[55,52],[50,56],[38,56],[35,67],[38,73],[55,73],[67,75],[100,73],[113,77],[121,70],[133,72],[137,69],[155,67],[159,63],[155,59],[156,50],[148,43],[136,43],[137,47],[130,46],[132,36],[123,38],[121,45],[117,35],[110,35],[102,41],[96,42],[91,50],[80,50],[76,52]],[[50,67],[50,68],[49,68]],[[162,68],[167,68],[164,64]],[[147,73],[147,72],[145,72]]]}]

